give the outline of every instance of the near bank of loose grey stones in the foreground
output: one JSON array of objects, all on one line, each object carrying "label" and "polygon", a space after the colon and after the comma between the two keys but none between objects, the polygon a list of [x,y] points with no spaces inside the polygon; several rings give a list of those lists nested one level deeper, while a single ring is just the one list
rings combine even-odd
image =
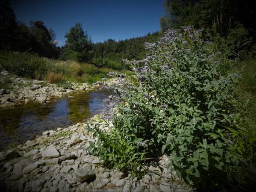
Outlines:
[{"label": "near bank of loose grey stones in the foreground", "polygon": [[[113,127],[110,120],[92,120],[104,129]],[[96,141],[86,123],[78,123],[1,152],[2,191],[192,191],[167,169],[167,156],[148,166],[142,179],[101,167],[89,150]]]}]

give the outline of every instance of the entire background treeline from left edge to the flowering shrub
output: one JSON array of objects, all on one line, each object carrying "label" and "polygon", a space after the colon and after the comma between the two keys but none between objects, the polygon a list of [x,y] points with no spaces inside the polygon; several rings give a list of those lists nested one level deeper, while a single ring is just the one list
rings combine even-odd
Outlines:
[{"label": "entire background treeline from left edge to the flowering shrub", "polygon": [[144,37],[120,40],[108,39],[104,43],[92,43],[81,23],[75,23],[66,33],[66,43],[57,47],[55,34],[40,20],[31,21],[30,26],[16,19],[8,0],[0,7],[0,49],[30,52],[42,57],[60,60],[75,60],[92,63],[97,67],[125,69],[123,58],[136,60],[146,55],[145,42],[156,42],[160,33],[149,33]]}]

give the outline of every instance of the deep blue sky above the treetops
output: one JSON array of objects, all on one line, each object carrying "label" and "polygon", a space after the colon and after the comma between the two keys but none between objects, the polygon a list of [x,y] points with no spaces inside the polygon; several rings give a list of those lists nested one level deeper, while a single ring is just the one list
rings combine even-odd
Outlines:
[{"label": "deep blue sky above the treetops", "polygon": [[56,34],[59,46],[75,22],[81,22],[93,42],[129,39],[160,30],[164,0],[11,0],[17,20],[42,20]]}]

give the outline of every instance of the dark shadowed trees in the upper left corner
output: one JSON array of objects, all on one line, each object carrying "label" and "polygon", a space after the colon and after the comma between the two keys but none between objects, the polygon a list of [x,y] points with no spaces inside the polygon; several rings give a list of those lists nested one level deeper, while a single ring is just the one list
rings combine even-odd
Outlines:
[{"label": "dark shadowed trees in the upper left corner", "polygon": [[0,6],[0,49],[32,52],[42,57],[58,58],[55,34],[42,21],[31,21],[30,26],[16,20],[9,1]]}]

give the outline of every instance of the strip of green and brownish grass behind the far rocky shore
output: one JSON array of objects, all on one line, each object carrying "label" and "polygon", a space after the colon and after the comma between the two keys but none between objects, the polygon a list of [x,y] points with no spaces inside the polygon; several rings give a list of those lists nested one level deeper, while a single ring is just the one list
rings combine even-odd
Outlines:
[{"label": "strip of green and brownish grass behind the far rocky shore", "polygon": [[89,83],[101,81],[102,78],[108,78],[107,73],[111,71],[133,74],[129,70],[113,70],[96,67],[89,63],[51,60],[33,54],[10,51],[0,52],[1,69],[25,78],[42,79],[60,85],[64,84],[64,86],[67,81]]}]

